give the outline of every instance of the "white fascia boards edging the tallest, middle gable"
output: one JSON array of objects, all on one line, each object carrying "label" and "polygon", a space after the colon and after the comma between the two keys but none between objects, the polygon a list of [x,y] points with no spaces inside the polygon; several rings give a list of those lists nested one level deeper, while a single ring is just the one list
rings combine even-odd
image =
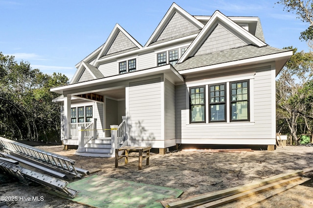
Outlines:
[{"label": "white fascia boards edging the tallest, middle gable", "polygon": [[204,25],[198,21],[196,18],[194,18],[192,15],[190,15],[188,12],[183,10],[179,7],[176,3],[173,3],[172,6],[169,8],[163,19],[160,21],[160,23],[157,25],[156,30],[153,32],[149,40],[146,42],[144,47],[147,47],[150,45],[156,37],[159,36],[159,34],[163,31],[164,27],[167,25],[168,21],[170,21],[170,18],[172,15],[178,12],[179,15],[181,15],[183,18],[185,18],[187,21],[192,23],[194,26],[196,26],[198,29],[202,29]]}]

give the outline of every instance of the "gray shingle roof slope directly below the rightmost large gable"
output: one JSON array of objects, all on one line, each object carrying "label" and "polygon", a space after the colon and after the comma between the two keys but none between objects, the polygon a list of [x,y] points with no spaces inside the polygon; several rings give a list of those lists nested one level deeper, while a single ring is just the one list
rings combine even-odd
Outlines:
[{"label": "gray shingle roof slope directly below the rightmost large gable", "polygon": [[177,63],[174,67],[177,71],[198,68],[202,66],[215,65],[225,62],[234,62],[255,57],[286,52],[289,50],[279,49],[270,46],[257,47],[246,45],[238,48],[230,48],[223,51],[216,51],[199,56],[194,56],[182,63]]}]

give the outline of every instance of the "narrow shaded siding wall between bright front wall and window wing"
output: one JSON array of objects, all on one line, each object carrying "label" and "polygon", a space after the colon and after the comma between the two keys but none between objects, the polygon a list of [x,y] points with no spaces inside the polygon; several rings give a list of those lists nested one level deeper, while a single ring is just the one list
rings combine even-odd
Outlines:
[{"label": "narrow shaded siding wall between bright front wall and window wing", "polygon": [[175,85],[165,80],[165,140],[175,138]]}]

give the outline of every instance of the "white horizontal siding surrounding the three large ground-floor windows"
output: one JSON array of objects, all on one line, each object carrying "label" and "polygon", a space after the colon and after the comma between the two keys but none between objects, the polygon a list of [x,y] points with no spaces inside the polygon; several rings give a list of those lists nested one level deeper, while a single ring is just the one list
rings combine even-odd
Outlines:
[{"label": "white horizontal siding surrounding the three large ground-floor windows", "polygon": [[[236,145],[274,145],[272,135],[272,89],[270,70],[256,71],[250,79],[250,122],[189,124],[189,96],[185,85],[176,87],[177,143],[181,144],[236,144]],[[239,78],[238,81],[241,79]],[[236,81],[236,80],[233,80]],[[209,82],[209,81],[208,81]],[[221,82],[217,82],[221,83]],[[227,90],[229,94],[229,91]],[[206,92],[208,96],[208,92]],[[227,96],[228,98],[228,96]],[[229,102],[227,110],[229,110]],[[208,110],[208,105],[206,105]],[[208,115],[208,114],[207,114]],[[208,121],[208,118],[206,117]]]}]

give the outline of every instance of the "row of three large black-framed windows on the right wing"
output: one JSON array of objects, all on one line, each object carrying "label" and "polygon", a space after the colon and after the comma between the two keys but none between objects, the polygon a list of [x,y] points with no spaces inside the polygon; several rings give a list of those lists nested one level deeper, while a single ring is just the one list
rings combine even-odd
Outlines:
[{"label": "row of three large black-framed windows on the right wing", "polygon": [[205,106],[205,86],[190,87],[190,123],[250,121],[249,89],[249,80],[209,84]]}]

